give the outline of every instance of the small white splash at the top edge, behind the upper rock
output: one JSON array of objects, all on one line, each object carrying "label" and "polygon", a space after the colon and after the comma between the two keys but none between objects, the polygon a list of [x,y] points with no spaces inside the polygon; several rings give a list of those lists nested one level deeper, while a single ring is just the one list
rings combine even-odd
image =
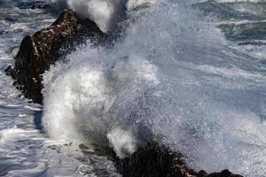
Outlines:
[{"label": "small white splash at the top edge, behind the upper rock", "polygon": [[83,18],[90,18],[105,33],[111,33],[123,12],[144,8],[154,4],[154,0],[51,0],[61,8],[70,8]]}]

